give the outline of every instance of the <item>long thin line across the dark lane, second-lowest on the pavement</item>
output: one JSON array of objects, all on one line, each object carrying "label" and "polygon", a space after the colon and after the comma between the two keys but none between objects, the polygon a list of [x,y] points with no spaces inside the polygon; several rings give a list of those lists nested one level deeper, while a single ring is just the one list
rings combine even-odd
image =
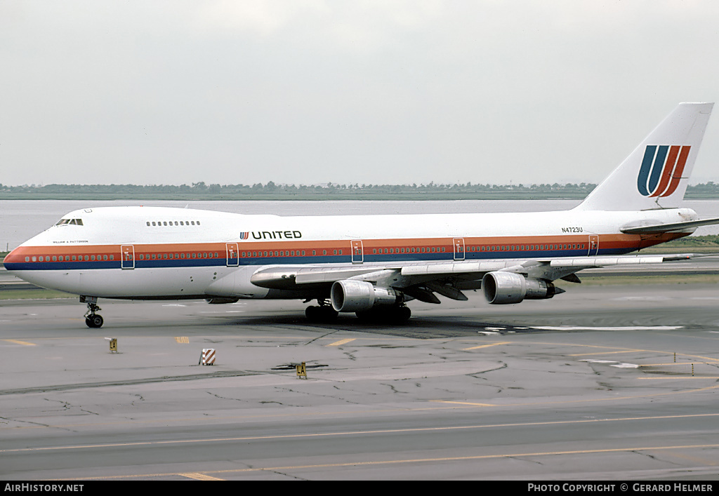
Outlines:
[{"label": "long thin line across the dark lane, second-lowest on the pavement", "polygon": [[[706,388],[710,389],[710,388]],[[173,439],[168,441],[136,441],[132,443],[106,443],[106,444],[82,444],[76,446],[45,446],[38,448],[16,448],[16,449],[0,449],[0,453],[25,453],[32,451],[64,451],[71,449],[93,449],[93,448],[119,448],[124,446],[161,446],[168,444],[198,444],[198,443],[222,443],[236,441],[261,441],[271,439],[293,439],[293,438],[324,438],[324,437],[343,437],[343,436],[360,436],[369,434],[387,434],[387,433],[412,433],[412,432],[431,432],[431,431],[462,431],[468,429],[485,429],[498,427],[533,427],[533,426],[558,426],[564,424],[582,424],[582,423],[605,423],[620,421],[648,421],[661,420],[667,418],[700,418],[700,417],[716,417],[719,413],[697,413],[696,415],[656,415],[651,417],[624,417],[624,418],[588,418],[572,421],[545,421],[545,422],[522,422],[522,423],[497,423],[497,424],[479,424],[472,426],[449,426],[449,427],[416,427],[416,428],[398,428],[398,429],[376,429],[370,431],[336,431],[326,433],[302,433],[302,434],[277,434],[268,436],[242,436],[236,438],[201,438],[201,439]],[[707,445],[715,446],[715,445]],[[719,445],[716,445],[719,446]],[[601,451],[601,450],[600,450]],[[622,450],[623,451],[623,450]]]}]

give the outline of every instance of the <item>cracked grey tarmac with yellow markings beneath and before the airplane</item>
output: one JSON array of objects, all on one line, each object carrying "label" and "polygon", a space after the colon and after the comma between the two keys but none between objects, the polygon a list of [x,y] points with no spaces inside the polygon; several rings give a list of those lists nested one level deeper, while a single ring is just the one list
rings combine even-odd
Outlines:
[{"label": "cracked grey tarmac with yellow markings beneath and before the airplane", "polygon": [[0,478],[719,479],[718,285],[566,286],[405,326],[2,300]]}]

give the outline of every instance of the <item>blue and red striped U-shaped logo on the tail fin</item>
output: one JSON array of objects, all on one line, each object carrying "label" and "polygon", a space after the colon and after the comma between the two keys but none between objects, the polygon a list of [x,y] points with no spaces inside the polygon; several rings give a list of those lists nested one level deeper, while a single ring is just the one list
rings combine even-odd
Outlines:
[{"label": "blue and red striped U-shaped logo on the tail fin", "polygon": [[682,179],[690,146],[650,144],[644,151],[637,178],[643,196],[670,196]]}]

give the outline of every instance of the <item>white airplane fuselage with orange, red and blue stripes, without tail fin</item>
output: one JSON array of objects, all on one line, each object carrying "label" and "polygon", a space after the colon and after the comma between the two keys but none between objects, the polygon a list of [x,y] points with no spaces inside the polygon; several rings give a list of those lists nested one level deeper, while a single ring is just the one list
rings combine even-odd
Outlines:
[{"label": "white airplane fuselage with orange, red and blue stripes, without tail fin", "polygon": [[640,236],[623,226],[695,219],[686,208],[324,217],[88,208],[14,249],[5,266],[44,288],[101,298],[304,298],[250,277],[273,266],[626,254],[690,231]]}]

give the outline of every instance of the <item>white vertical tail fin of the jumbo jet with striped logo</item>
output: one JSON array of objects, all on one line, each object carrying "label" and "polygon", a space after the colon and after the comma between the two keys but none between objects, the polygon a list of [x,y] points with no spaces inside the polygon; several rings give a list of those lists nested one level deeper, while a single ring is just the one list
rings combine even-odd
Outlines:
[{"label": "white vertical tail fin of the jumbo jet with striped logo", "polygon": [[579,210],[676,208],[714,104],[679,104],[609,175]]}]

